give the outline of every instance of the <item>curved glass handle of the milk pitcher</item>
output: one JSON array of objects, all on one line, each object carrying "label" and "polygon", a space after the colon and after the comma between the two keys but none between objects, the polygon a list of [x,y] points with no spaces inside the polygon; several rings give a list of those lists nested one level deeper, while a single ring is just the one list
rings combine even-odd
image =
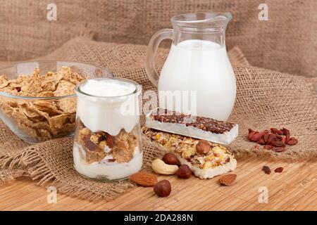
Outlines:
[{"label": "curved glass handle of the milk pitcher", "polygon": [[154,56],[159,44],[163,39],[172,39],[173,29],[163,29],[156,32],[149,41],[147,46],[147,55],[145,56],[145,71],[147,71],[147,77],[154,86],[158,86],[159,73],[155,70]]}]

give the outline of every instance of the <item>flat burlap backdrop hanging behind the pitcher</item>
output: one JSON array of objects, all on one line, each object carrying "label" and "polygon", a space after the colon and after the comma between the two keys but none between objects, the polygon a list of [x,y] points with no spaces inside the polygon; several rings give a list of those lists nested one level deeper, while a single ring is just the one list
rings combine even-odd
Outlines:
[{"label": "flat burlap backdrop hanging behind the pitcher", "polygon": [[[57,7],[48,21],[47,5]],[[268,21],[259,20],[267,4]],[[317,76],[316,0],[6,0],[0,7],[0,60],[45,56],[71,37],[95,32],[98,41],[148,44],[180,13],[230,11],[228,49],[240,46],[251,65]]]}]

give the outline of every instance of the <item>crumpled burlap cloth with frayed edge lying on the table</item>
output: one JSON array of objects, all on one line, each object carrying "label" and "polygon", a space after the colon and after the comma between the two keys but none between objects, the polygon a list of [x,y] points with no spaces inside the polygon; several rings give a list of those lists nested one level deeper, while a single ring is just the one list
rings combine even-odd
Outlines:
[{"label": "crumpled burlap cloth with frayed edge lying on the table", "polygon": [[[134,79],[147,90],[154,87],[143,68],[145,49],[146,46],[108,44],[77,37],[45,58],[78,60],[104,66],[118,77]],[[159,51],[159,62],[163,62],[166,53],[165,49]],[[238,48],[229,51],[229,56],[237,76],[237,101],[230,121],[240,124],[240,136],[230,144],[230,149],[238,158],[250,154],[288,159],[316,158],[317,100],[309,79],[251,67]],[[299,139],[299,143],[280,154],[256,150],[254,143],[246,139],[249,127],[287,127]],[[30,176],[37,179],[39,185],[53,185],[60,193],[90,200],[111,200],[133,186],[129,181],[102,183],[78,175],[73,169],[73,140],[70,138],[25,147],[26,144],[3,125],[0,136],[0,146],[3,146],[0,158],[4,162],[0,172],[2,179]],[[149,169],[151,160],[163,154],[149,145],[145,145],[143,150],[144,169]]]}]

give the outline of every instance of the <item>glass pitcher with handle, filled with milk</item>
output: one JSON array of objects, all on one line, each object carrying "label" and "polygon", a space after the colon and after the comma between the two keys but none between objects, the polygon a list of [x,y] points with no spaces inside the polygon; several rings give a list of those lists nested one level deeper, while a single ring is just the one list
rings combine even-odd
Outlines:
[{"label": "glass pitcher with handle, filled with milk", "polygon": [[[160,108],[228,120],[237,89],[225,49],[225,29],[231,18],[230,13],[175,15],[173,29],[154,34],[145,68],[158,87]],[[159,76],[154,56],[163,39],[172,39],[172,44]]]}]

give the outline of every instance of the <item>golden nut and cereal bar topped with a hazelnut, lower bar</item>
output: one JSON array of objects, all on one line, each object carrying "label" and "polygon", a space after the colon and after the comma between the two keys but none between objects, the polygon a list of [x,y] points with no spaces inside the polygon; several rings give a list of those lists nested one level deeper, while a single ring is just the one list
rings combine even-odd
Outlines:
[{"label": "golden nut and cereal bar topped with a hazelnut, lower bar", "polygon": [[164,151],[175,153],[181,164],[188,165],[195,176],[210,179],[237,167],[232,153],[224,146],[189,136],[142,127],[142,140]]}]

